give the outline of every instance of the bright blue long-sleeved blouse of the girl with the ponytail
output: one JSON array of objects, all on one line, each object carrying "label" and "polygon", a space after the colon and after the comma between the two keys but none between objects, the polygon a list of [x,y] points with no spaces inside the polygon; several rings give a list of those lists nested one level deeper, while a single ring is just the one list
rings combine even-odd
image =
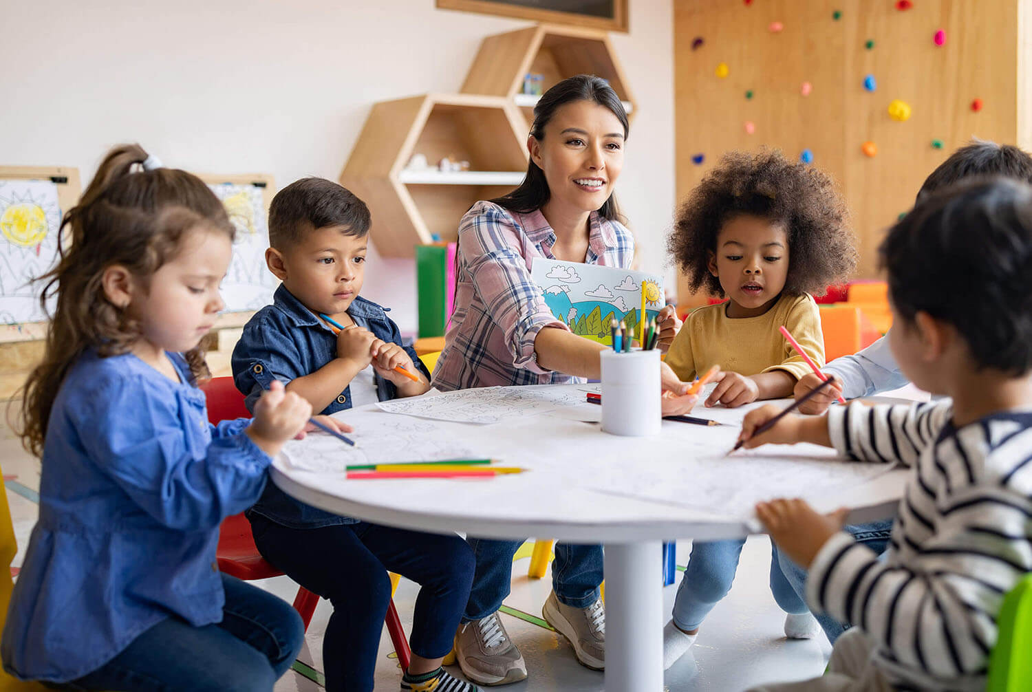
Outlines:
[{"label": "bright blue long-sleeved blouse of the girl with the ponytail", "polygon": [[169,616],[222,621],[219,524],[255,501],[271,459],[248,419],[211,425],[186,361],[169,357],[182,383],[87,351],[61,384],[0,644],[14,675],[68,682]]}]

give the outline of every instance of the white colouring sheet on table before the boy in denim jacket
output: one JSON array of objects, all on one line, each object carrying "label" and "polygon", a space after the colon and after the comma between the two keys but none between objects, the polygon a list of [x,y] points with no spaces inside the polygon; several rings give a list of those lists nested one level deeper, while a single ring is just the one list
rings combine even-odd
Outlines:
[{"label": "white colouring sheet on table before the boy in denim jacket", "polygon": [[467,459],[477,454],[430,421],[398,419],[378,411],[348,411],[337,418],[354,427],[349,447],[331,435],[310,433],[290,440],[283,454],[291,466],[315,473],[344,472],[349,464]]}]

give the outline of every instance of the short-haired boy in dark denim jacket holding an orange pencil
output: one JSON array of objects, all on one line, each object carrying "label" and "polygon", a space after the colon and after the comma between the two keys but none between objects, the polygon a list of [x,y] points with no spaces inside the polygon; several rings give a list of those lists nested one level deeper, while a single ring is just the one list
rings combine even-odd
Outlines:
[{"label": "short-haired boy in dark denim jacket holding an orange pencil", "polygon": [[[297,180],[272,199],[265,261],[283,284],[245,326],[232,358],[249,408],[273,380],[327,415],[429,389],[429,372],[401,345],[386,309],[358,296],[369,223],[360,199],[322,178]],[[343,327],[338,334],[325,318]],[[428,592],[416,602],[401,689],[476,689],[441,668],[473,580],[465,541],[328,514],[271,483],[247,516],[262,557],[333,604],[323,640],[327,690],[373,689],[391,595],[387,570]]]}]

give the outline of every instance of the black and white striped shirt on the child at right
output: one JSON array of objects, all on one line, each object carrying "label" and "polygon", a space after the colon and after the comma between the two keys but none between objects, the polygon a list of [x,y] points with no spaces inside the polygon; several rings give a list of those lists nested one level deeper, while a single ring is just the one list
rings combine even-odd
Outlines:
[{"label": "black and white striped shirt on the child at right", "polygon": [[841,454],[912,469],[884,555],[838,533],[806,584],[812,607],[871,636],[897,689],[985,690],[1003,595],[1032,571],[1032,409],[952,416],[949,400],[828,415]]}]

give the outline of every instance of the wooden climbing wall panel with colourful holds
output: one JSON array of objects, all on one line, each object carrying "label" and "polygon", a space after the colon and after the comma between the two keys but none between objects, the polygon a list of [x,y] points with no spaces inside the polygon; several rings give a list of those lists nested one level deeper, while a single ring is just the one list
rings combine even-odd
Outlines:
[{"label": "wooden climbing wall panel with colourful holds", "polygon": [[1032,147],[1030,12],[1030,0],[674,0],[678,199],[731,150],[811,159],[846,195],[859,276],[875,276],[884,230],[953,150],[972,136]]}]

